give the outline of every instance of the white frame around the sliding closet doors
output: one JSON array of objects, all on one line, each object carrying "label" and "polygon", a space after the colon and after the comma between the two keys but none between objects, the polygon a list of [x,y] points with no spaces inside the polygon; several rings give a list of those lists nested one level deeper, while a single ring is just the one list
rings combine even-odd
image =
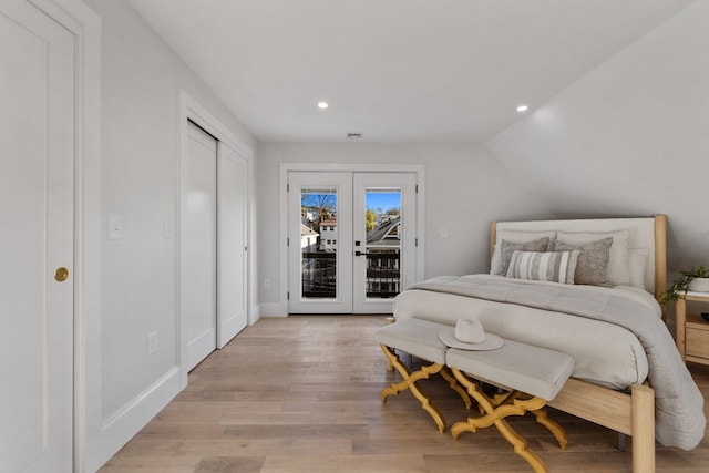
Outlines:
[{"label": "white frame around the sliding closet doors", "polygon": [[[184,203],[185,198],[185,186],[184,186],[184,176],[186,175],[186,166],[187,166],[187,122],[194,122],[197,126],[202,127],[204,131],[209,133],[217,140],[217,176],[216,183],[219,182],[219,155],[220,147],[226,145],[235,151],[240,157],[246,161],[246,186],[245,195],[246,195],[246,215],[244,218],[245,224],[245,244],[246,248],[251,248],[251,228],[250,228],[250,183],[253,176],[253,151],[242,142],[234,133],[232,133],[226,126],[222,124],[219,120],[217,120],[214,115],[212,115],[204,106],[202,106],[196,100],[194,100],[186,91],[179,91],[179,173],[178,173],[178,189],[179,189],[179,202],[178,202],[178,219],[179,222],[176,225],[176,228],[181,228],[182,223],[184,222],[184,215],[186,205]],[[218,194],[218,191],[217,191]],[[218,213],[218,197],[217,197],[217,213]],[[217,222],[217,227],[218,227]],[[217,228],[218,230],[218,228]],[[182,234],[182,229],[178,232],[178,235]],[[218,251],[218,249],[217,249]],[[246,298],[246,319],[249,325],[254,322],[253,315],[250,310],[250,285],[248,275],[251,273],[253,258],[250,256],[250,250],[246,251],[246,277],[244,279],[244,297]],[[217,253],[218,260],[218,253]],[[218,267],[217,261],[217,267]],[[178,327],[177,327],[177,336],[179,341],[179,389],[185,389],[187,387],[187,337],[185,333],[184,323],[185,323],[185,315],[182,311],[182,241],[178,236],[177,243],[177,312],[178,312]],[[219,281],[217,280],[217,287]],[[217,345],[218,337],[222,330],[220,327],[220,317],[218,310],[218,299],[217,299]],[[220,347],[218,347],[220,348]]]}]

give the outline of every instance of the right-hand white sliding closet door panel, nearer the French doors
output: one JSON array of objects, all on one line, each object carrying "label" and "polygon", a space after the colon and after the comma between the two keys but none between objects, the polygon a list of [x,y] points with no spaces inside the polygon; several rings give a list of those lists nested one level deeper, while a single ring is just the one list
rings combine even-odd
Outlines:
[{"label": "right-hand white sliding closet door panel, nearer the French doors", "polygon": [[218,169],[218,348],[242,331],[247,320],[246,222],[247,162],[219,142]]}]

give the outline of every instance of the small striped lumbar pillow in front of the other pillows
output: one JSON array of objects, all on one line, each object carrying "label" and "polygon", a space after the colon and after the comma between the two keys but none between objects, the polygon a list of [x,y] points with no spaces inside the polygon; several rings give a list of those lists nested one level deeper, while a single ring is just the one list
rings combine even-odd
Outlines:
[{"label": "small striped lumbar pillow in front of the other pillows", "polygon": [[508,278],[574,284],[578,249],[573,251],[514,250],[507,269]]}]

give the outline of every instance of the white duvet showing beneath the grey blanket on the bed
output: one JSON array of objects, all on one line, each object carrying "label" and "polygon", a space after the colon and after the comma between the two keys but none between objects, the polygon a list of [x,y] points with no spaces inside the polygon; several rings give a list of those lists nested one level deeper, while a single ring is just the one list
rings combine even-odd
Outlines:
[{"label": "white duvet showing beneath the grey blanket on the bed", "polygon": [[[508,281],[504,276],[485,277]],[[520,282],[558,286],[556,282]],[[592,286],[586,288],[592,291],[609,290]],[[625,286],[613,290],[657,308],[657,318],[660,318],[657,302],[645,290]],[[451,326],[458,319],[477,318],[485,331],[573,356],[576,360],[574,378],[607,388],[625,390],[644,382],[648,374],[647,357],[637,337],[623,327],[599,320],[420,289],[407,290],[397,297],[394,316]]]}]

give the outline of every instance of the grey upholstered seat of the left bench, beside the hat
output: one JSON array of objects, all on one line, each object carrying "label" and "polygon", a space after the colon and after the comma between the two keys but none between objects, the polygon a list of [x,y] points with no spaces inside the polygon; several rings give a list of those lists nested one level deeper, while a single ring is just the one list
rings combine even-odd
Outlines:
[{"label": "grey upholstered seat of the left bench, beside the hat", "polygon": [[434,363],[445,364],[448,347],[439,339],[442,323],[421,319],[405,319],[384,326],[377,331],[377,341],[387,347]]}]

